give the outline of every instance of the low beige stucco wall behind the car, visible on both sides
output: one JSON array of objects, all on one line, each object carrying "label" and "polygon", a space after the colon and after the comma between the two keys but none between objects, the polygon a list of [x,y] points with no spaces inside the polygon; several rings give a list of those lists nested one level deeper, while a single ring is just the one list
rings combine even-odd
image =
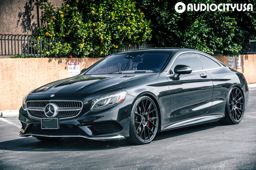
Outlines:
[{"label": "low beige stucco wall behind the car, visible on both sides", "polygon": [[[228,57],[215,56],[228,65]],[[0,59],[0,110],[19,109],[29,91],[47,83],[68,77],[67,62],[80,62],[80,70],[100,58],[31,58]],[[242,69],[248,83],[256,83],[256,55],[242,55]],[[236,60],[235,60],[236,61]]]}]

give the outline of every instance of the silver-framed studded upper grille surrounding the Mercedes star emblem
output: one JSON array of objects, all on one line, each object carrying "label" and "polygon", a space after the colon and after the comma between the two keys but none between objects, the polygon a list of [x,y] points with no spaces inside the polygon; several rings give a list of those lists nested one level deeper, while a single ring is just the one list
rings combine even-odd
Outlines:
[{"label": "silver-framed studded upper grille surrounding the Mercedes star emblem", "polygon": [[77,116],[83,107],[81,101],[27,101],[28,113],[33,117],[46,118],[44,109],[49,103],[55,103],[59,109],[62,109],[56,116],[61,119]]}]

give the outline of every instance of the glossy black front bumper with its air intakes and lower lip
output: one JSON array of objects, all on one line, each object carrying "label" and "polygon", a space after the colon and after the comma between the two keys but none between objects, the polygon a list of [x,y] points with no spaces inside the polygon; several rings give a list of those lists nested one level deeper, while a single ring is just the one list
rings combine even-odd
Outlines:
[{"label": "glossy black front bumper with its air intakes and lower lip", "polygon": [[19,110],[24,133],[19,136],[83,137],[93,140],[114,140],[129,137],[130,114],[135,97],[127,94],[120,104],[108,109],[82,112],[73,118],[59,119],[59,129],[41,129],[41,119]]}]

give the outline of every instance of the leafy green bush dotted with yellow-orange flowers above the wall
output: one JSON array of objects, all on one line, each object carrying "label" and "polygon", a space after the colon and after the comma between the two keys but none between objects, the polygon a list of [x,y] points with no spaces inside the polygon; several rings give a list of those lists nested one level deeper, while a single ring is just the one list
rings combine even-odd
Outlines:
[{"label": "leafy green bush dotted with yellow-orange flowers above the wall", "polygon": [[69,43],[55,46],[52,54],[103,57],[119,52],[125,45],[151,40],[150,20],[146,20],[133,0],[66,0],[56,9],[48,0],[36,0],[44,10],[45,27],[38,36],[63,37]]}]

